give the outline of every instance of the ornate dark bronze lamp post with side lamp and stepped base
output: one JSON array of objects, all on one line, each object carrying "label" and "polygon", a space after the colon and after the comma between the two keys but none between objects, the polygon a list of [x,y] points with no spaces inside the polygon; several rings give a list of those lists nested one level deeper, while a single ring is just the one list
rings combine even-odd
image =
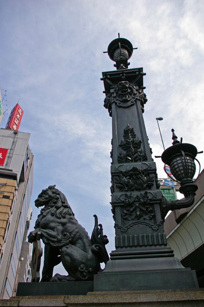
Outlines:
[{"label": "ornate dark bronze lamp post with side lamp and stepped base", "polygon": [[185,195],[184,200],[167,201],[159,190],[142,116],[147,102],[143,92],[145,73],[142,67],[127,69],[132,51],[129,40],[113,40],[107,52],[117,70],[103,72],[101,79],[106,95],[104,106],[112,117],[115,250],[105,270],[94,276],[94,291],[196,288],[195,272],[184,268],[167,247],[163,223],[169,209],[188,207],[194,202],[197,187],[192,176],[197,150],[175,139],[174,145],[164,151],[162,160],[181,181],[180,191]]}]

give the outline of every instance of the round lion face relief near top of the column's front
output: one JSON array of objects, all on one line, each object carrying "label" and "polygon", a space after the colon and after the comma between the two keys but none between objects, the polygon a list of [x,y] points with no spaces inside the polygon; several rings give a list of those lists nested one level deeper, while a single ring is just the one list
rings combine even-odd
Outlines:
[{"label": "round lion face relief near top of the column's front", "polygon": [[135,86],[128,81],[121,81],[115,87],[115,94],[118,100],[131,100],[136,94]]}]

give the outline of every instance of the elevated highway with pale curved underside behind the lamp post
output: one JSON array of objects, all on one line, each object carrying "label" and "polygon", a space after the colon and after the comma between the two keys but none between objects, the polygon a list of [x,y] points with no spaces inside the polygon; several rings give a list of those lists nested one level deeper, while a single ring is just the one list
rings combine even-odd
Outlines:
[{"label": "elevated highway with pale curved underside behind the lamp post", "polygon": [[196,271],[204,287],[204,170],[195,180],[198,186],[191,207],[172,211],[164,222],[167,244],[184,267]]}]

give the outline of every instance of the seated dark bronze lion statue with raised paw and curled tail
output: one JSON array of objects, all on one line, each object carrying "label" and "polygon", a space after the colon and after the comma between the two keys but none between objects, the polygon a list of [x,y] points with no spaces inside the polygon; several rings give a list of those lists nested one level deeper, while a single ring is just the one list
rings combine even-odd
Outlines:
[{"label": "seated dark bronze lion statue with raised paw and curled tail", "polygon": [[[35,222],[35,230],[28,235],[33,243],[37,233],[45,244],[41,282],[93,280],[101,271],[100,263],[109,260],[102,225],[97,216],[91,239],[74,217],[65,195],[54,186],[42,190],[35,200],[36,207],[44,206]],[[99,226],[99,227],[98,227]],[[68,275],[53,274],[53,268],[62,261]]]}]

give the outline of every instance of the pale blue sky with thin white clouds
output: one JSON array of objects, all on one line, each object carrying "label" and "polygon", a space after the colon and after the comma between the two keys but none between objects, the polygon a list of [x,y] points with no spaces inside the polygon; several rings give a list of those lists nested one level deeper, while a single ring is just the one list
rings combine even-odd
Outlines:
[{"label": "pale blue sky with thin white clouds", "polygon": [[[93,214],[98,215],[110,241],[107,250],[115,249],[112,128],[100,78],[102,71],[115,70],[103,51],[118,32],[138,47],[129,68],[143,67],[146,73],[143,116],[153,157],[163,152],[160,116],[165,148],[172,144],[174,128],[183,143],[204,150],[203,16],[202,0],[1,1],[0,88],[2,98],[7,90],[7,106],[0,127],[19,101],[24,111],[19,131],[31,134],[34,154],[30,231],[39,213],[34,200],[56,184],[89,235]],[[197,158],[202,170],[204,154]],[[163,162],[154,160],[158,177],[166,178]]]}]

